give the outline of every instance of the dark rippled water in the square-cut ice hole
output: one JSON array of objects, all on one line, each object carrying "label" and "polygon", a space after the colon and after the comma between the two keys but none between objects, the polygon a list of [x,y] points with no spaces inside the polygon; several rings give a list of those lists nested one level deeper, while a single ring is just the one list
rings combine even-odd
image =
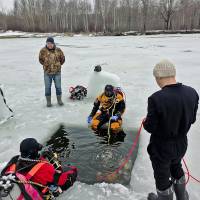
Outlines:
[{"label": "dark rippled water in the square-cut ice hole", "polygon": [[124,132],[119,134],[120,137],[112,138],[111,144],[108,144],[106,129],[97,135],[87,127],[61,125],[47,141],[47,146],[58,153],[62,164],[71,164],[78,168],[78,179],[83,183],[108,182],[128,185],[138,145],[129,162],[117,175],[107,175],[114,172],[124,161],[136,134],[136,129],[124,129]]}]

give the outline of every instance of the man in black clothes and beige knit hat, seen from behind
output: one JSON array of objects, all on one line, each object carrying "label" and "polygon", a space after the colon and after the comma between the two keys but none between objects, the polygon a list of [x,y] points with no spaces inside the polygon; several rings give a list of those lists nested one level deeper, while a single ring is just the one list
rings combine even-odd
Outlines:
[{"label": "man in black clothes and beige knit hat, seen from behind", "polygon": [[175,66],[163,60],[153,70],[161,88],[148,98],[148,114],[144,128],[151,133],[149,153],[157,195],[148,200],[189,200],[181,160],[187,150],[187,133],[196,121],[199,96],[186,85],[176,82]]}]

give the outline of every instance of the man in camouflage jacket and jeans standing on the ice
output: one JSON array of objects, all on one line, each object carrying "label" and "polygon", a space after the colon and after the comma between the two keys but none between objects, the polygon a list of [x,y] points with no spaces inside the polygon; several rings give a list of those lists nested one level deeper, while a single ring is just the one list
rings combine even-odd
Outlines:
[{"label": "man in camouflage jacket and jeans standing on the ice", "polygon": [[65,62],[65,56],[62,50],[56,47],[54,39],[48,37],[46,46],[40,50],[39,62],[43,65],[44,69],[44,84],[45,96],[47,100],[47,107],[51,107],[51,85],[52,81],[55,83],[57,101],[60,106],[62,102],[62,89],[61,89],[61,67]]}]

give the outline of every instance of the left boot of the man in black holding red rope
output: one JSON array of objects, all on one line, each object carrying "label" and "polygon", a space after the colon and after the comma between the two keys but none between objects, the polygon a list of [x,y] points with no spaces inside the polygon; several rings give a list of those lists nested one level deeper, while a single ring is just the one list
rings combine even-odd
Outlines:
[{"label": "left boot of the man in black holding red rope", "polygon": [[173,189],[170,187],[164,191],[157,190],[157,195],[149,193],[147,200],[173,200]]}]

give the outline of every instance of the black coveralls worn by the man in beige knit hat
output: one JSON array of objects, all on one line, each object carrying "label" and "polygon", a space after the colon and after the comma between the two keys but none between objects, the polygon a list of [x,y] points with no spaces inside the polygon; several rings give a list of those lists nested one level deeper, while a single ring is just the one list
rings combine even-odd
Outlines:
[{"label": "black coveralls worn by the man in beige knit hat", "polygon": [[187,133],[196,121],[199,96],[181,83],[167,85],[148,98],[144,128],[151,133],[150,155],[158,190],[170,187],[170,177],[183,175],[181,160],[187,150]]}]

